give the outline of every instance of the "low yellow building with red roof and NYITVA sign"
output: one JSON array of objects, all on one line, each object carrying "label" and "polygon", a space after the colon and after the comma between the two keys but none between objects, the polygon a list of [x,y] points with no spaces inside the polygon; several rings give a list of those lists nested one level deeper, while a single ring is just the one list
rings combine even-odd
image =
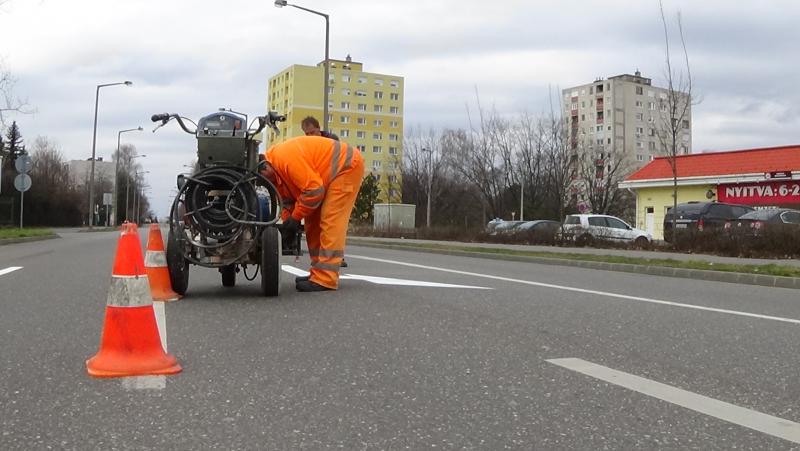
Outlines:
[{"label": "low yellow building with red roof and NYITVA sign", "polygon": [[[678,156],[678,203],[719,201],[757,207],[800,207],[800,145]],[[636,191],[636,226],[663,238],[672,206],[670,160],[659,157],[620,188]]]}]

